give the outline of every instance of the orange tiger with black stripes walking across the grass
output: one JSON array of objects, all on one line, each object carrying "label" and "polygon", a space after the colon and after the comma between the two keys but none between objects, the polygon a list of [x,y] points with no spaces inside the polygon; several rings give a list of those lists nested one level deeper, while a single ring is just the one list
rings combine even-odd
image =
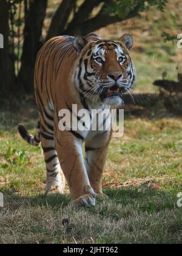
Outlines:
[{"label": "orange tiger with black stripes walking across the grass", "polygon": [[38,127],[35,136],[23,124],[19,124],[18,130],[27,143],[42,146],[47,192],[64,193],[67,181],[73,205],[93,207],[96,197],[104,196],[102,178],[112,129],[62,131],[58,126],[62,118],[59,111],[66,109],[72,113],[75,104],[78,110],[88,113],[93,108],[123,106],[123,94],[132,90],[135,83],[129,51],[132,46],[129,34],[120,40],[103,40],[96,34],[66,35],[50,39],[38,53],[35,65]]}]

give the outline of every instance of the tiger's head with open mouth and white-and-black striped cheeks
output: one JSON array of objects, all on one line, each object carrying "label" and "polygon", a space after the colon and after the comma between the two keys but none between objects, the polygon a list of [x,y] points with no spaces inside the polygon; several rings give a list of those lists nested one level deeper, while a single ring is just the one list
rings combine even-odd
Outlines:
[{"label": "tiger's head with open mouth and white-and-black striped cheeks", "polygon": [[133,88],[135,69],[129,55],[133,38],[126,34],[118,41],[96,35],[75,37],[78,54],[73,82],[89,101],[112,107],[123,105],[123,94]]}]

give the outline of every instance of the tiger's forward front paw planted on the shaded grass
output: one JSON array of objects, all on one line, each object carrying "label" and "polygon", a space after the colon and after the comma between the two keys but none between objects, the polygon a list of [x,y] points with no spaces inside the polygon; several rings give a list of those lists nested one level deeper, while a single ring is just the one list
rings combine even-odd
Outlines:
[{"label": "tiger's forward front paw planted on the shaded grass", "polygon": [[84,194],[84,196],[78,197],[78,199],[72,201],[73,205],[78,207],[93,207],[96,204],[96,199],[92,194]]}]

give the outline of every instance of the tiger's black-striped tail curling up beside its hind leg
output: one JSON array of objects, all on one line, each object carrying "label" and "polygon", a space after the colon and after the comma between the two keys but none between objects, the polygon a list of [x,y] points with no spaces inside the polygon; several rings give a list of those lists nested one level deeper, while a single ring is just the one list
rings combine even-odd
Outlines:
[{"label": "tiger's black-striped tail curling up beside its hind leg", "polygon": [[33,137],[33,135],[31,135],[28,130],[26,129],[26,127],[24,126],[24,124],[19,124],[18,125],[18,131],[19,134],[21,135],[21,137],[27,141],[27,143],[29,143],[32,146],[39,146],[39,144],[41,143],[41,125],[38,122],[38,127],[36,129],[36,133],[35,136]]}]

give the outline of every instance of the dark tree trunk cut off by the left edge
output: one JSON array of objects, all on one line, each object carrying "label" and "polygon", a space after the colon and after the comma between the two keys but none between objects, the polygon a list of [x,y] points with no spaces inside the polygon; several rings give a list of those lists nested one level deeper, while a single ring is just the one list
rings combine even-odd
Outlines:
[{"label": "dark tree trunk cut off by the left edge", "polygon": [[4,37],[4,49],[0,49],[0,88],[1,93],[15,90],[15,69],[13,57],[10,55],[9,26],[8,26],[8,4],[0,0],[0,33]]}]

